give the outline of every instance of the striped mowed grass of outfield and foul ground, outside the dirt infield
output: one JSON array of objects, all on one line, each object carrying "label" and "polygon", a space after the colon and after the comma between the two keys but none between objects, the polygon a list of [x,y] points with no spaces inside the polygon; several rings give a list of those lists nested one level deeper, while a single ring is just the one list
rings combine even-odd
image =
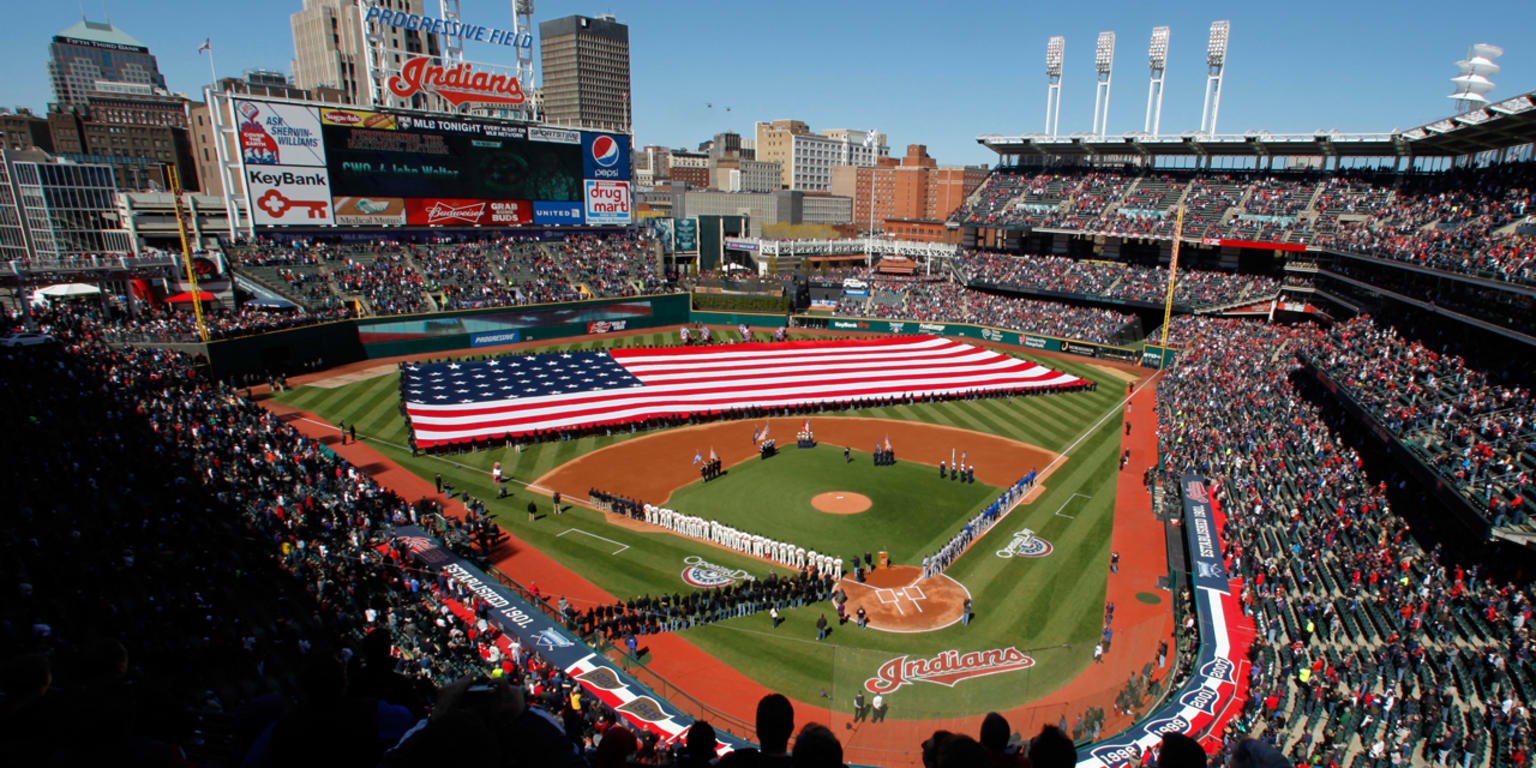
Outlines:
[{"label": "striped mowed grass of outfield and foul ground, outside the dirt infield", "polygon": [[[766,333],[759,333],[766,341]],[[538,352],[604,349],[610,346],[670,346],[673,333],[650,333],[625,339],[585,339],[556,344]],[[1098,382],[1094,392],[1040,395],[1009,399],[955,401],[917,406],[859,409],[837,415],[920,421],[1000,435],[1071,458],[1046,479],[1046,492],[1032,504],[1017,508],[1003,524],[977,542],[949,574],[965,584],[975,602],[969,627],[949,627],[935,633],[892,634],[860,631],[848,624],[825,642],[816,642],[816,617],[828,605],[786,611],[785,624],[770,627],[766,616],[731,619],[684,633],[707,653],[742,670],[765,687],[802,702],[849,710],[856,685],[872,676],[879,664],[900,654],[929,656],[942,650],[985,650],[1017,647],[1037,665],[1028,671],[978,677],[954,688],[919,685],[892,694],[899,708],[892,717],[948,717],[1003,710],[1038,699],[1087,668],[1098,639],[1104,608],[1109,541],[1114,528],[1115,476],[1120,452],[1121,418],[1117,404],[1124,382],[1075,361],[1026,359]],[[548,499],[518,488],[508,499],[495,499],[490,467],[519,481],[545,472],[644,432],[588,436],[570,441],[524,445],[524,450],[493,450],[412,458],[406,449],[407,430],[399,416],[399,376],[386,375],[333,390],[300,387],[278,399],[321,418],[356,425],[372,447],[427,481],[441,473],[456,488],[470,488],[485,499],[498,524],[528,545],[548,553],[561,564],[584,574],[616,596],[684,591],[679,573],[685,556],[700,556],[757,576],[770,567],[739,558],[716,547],[667,533],[637,533],[607,525],[599,513],[574,508],[564,516],[527,521],[530,499],[548,511]],[[1103,424],[1089,427],[1109,415]],[[1081,439],[1080,439],[1081,438]],[[1075,445],[1074,445],[1075,442]],[[793,450],[793,449],[790,449]],[[899,450],[900,455],[900,450]],[[865,456],[865,461],[868,458]],[[1020,473],[1028,467],[1021,467]],[[730,478],[720,481],[730,482]],[[1058,513],[1060,511],[1060,513]],[[1029,527],[1055,545],[1043,559],[1001,559],[994,553]],[[596,536],[601,536],[596,538]],[[628,545],[613,554],[616,544]],[[863,551],[868,542],[837,544],[837,551]],[[846,556],[846,554],[845,554]],[[1104,680],[1118,688],[1124,680]],[[820,699],[820,691],[833,700]]]}]

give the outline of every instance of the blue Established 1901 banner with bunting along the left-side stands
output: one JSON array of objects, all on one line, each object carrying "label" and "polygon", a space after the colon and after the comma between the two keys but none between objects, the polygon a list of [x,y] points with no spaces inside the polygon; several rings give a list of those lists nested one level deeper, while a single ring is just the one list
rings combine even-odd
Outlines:
[{"label": "blue Established 1901 banner with bunting along the left-side stands", "polygon": [[[511,657],[510,637],[516,637],[524,648],[538,653],[576,679],[587,696],[593,696],[617,711],[631,727],[654,733],[660,737],[662,745],[682,739],[693,727],[693,717],[610,664],[602,654],[554,624],[548,614],[524,601],[511,588],[452,553],[425,530],[401,525],[392,531],[390,538],[393,542],[406,545],[419,565],[433,574],[441,573],[453,579],[490,605],[487,619],[504,633],[502,637],[496,639],[504,656]],[[461,621],[475,622],[475,611],[468,605],[445,594],[442,601]],[[725,731],[716,731],[716,737],[722,742],[720,754],[746,746],[746,742]]]}]

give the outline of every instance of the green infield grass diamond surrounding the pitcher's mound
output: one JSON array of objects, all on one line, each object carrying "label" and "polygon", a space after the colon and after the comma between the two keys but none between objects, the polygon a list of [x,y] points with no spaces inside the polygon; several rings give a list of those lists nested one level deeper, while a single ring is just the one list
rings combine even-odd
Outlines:
[{"label": "green infield grass diamond surrounding the pitcher's mound", "polygon": [[[785,449],[679,488],[667,505],[834,558],[885,550],[892,562],[915,564],[1001,493],[938,479],[938,470],[922,464],[876,467],[869,453],[851,456],[845,464],[836,445]],[[811,498],[825,492],[863,493],[871,505],[859,515],[828,515],[811,507]]]}]

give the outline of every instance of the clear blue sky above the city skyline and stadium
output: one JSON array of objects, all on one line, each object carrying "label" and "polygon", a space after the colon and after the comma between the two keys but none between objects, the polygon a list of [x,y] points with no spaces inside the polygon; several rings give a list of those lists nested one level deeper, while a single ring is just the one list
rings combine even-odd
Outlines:
[{"label": "clear blue sky above the city skyline and stadium", "polygon": [[[467,22],[510,26],[510,0],[461,0]],[[197,54],[214,38],[218,74],[287,71],[289,14],[301,0],[84,0],[149,45],[172,91],[209,81]],[[429,0],[429,8],[436,8]],[[1452,114],[1445,94],[1470,43],[1505,48],[1493,97],[1536,89],[1531,0],[1488,0],[1467,12],[1422,2],[536,2],[535,22],[611,12],[630,25],[639,144],[694,146],[719,131],[750,135],[753,121],[799,118],[813,129],[876,127],[895,152],[928,144],[940,163],[986,163],[977,134],[1043,127],[1044,46],[1066,35],[1061,132],[1087,131],[1094,43],[1118,35],[1109,131],[1140,131],[1146,46],[1172,28],[1163,132],[1200,124],[1206,34],[1232,22],[1221,132],[1407,129]],[[48,41],[80,18],[81,3],[12,3],[0,45],[9,51],[0,104],[46,109]],[[465,55],[507,63],[511,49],[468,45]],[[707,108],[713,103],[714,108]],[[725,108],[730,108],[730,112]]]}]

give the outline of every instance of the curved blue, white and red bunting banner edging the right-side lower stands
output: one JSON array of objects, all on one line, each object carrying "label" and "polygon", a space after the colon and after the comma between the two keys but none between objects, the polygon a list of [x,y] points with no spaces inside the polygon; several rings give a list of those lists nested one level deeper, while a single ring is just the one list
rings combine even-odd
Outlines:
[{"label": "curved blue, white and red bunting banner edging the right-side lower stands", "polygon": [[[1212,502],[1204,478],[1184,475],[1178,484],[1184,498],[1184,536],[1195,576],[1195,611],[1200,621],[1200,664],[1189,682],[1167,703],[1134,725],[1087,750],[1078,750],[1077,768],[1123,768],[1141,765],[1141,756],[1178,731],[1201,739],[1221,739],[1226,722],[1243,710],[1247,676],[1243,659],[1253,642],[1253,621],[1243,616],[1221,558],[1224,516]],[[1172,667],[1175,662],[1169,659]]]}]

